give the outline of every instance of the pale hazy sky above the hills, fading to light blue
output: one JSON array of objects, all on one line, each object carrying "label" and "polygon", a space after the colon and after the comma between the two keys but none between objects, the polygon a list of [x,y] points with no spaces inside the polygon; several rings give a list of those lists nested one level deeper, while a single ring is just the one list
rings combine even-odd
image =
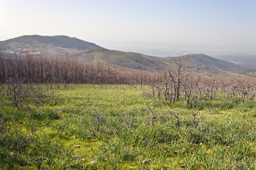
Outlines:
[{"label": "pale hazy sky above the hills, fading to light blue", "polygon": [[0,2],[0,41],[21,35],[68,35],[148,55],[256,55],[255,0]]}]

